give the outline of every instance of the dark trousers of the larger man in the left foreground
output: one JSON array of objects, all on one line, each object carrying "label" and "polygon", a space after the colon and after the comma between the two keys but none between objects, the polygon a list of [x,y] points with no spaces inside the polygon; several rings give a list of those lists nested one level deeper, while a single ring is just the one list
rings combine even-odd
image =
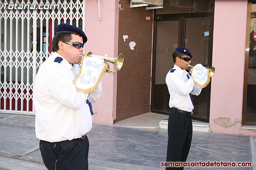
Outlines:
[{"label": "dark trousers of the larger man in the left foreground", "polygon": [[48,170],[88,170],[87,136],[53,143],[40,140],[39,147]]}]

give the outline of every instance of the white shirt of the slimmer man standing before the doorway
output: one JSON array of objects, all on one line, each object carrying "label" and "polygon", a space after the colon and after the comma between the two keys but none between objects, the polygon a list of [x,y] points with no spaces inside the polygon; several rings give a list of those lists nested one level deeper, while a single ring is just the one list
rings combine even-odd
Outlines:
[{"label": "white shirt of the slimmer man standing before the doorway", "polygon": [[[192,111],[194,106],[189,94],[191,92],[191,94],[198,96],[202,88],[194,84],[193,78],[188,79],[188,72],[185,69],[182,70],[180,67],[174,65],[171,70],[167,73],[165,79],[170,93],[169,107]],[[190,77],[189,74],[188,76]]]}]

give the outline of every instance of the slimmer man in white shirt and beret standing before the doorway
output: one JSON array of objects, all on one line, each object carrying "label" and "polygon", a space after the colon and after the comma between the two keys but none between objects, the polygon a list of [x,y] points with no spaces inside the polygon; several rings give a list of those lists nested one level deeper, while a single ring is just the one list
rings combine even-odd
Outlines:
[{"label": "slimmer man in white shirt and beret standing before the doorway", "polygon": [[177,47],[172,57],[174,66],[166,75],[166,84],[170,93],[169,107],[172,108],[168,119],[166,162],[185,162],[192,140],[191,115],[194,109],[192,94],[198,96],[202,88],[194,84],[194,80],[186,70],[191,63],[190,51],[184,47]]}]

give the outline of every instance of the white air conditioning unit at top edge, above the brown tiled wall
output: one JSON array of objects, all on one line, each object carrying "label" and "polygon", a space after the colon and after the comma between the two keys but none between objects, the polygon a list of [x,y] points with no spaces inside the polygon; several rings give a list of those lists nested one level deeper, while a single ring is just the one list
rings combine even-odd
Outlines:
[{"label": "white air conditioning unit at top edge, above the brown tiled wall", "polygon": [[131,0],[130,7],[146,6],[146,10],[163,8],[164,0]]}]

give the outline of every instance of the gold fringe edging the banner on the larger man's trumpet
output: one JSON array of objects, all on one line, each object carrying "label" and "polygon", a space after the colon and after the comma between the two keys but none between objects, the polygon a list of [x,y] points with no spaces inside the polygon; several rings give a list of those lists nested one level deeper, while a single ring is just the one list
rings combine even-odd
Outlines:
[{"label": "gold fringe edging the banner on the larger man's trumpet", "polygon": [[[81,62],[80,62],[80,63],[81,63],[81,68],[80,68],[78,77],[75,78],[75,79],[73,80],[73,83],[72,83],[72,84],[74,84],[75,86],[76,86],[76,81],[78,80],[78,78],[80,77],[80,75],[81,75],[81,73],[82,73],[84,57],[86,57],[86,55],[83,56],[83,58],[82,58],[82,60],[81,60]],[[81,92],[81,93],[84,93],[84,94],[88,94],[88,93],[93,92],[93,91],[98,87],[98,84],[99,84],[99,82],[100,82],[100,79],[101,79],[102,75],[104,74],[104,72],[106,72],[107,68],[108,68],[107,65],[104,64],[104,67],[103,67],[103,69],[102,69],[102,71],[101,71],[101,73],[100,73],[100,76],[99,76],[97,82],[94,84],[94,86],[92,86],[91,88],[87,88],[87,89],[78,88],[78,87],[76,86],[76,90],[77,90],[78,92]]]}]

